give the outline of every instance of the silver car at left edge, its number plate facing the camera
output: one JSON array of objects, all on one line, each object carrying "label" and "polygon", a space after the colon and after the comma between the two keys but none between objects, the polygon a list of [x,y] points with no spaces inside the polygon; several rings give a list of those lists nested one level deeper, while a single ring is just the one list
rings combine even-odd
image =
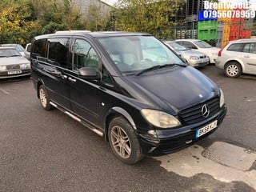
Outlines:
[{"label": "silver car at left edge, its number plate facing the camera", "polygon": [[30,75],[30,62],[14,47],[0,47],[0,78]]}]

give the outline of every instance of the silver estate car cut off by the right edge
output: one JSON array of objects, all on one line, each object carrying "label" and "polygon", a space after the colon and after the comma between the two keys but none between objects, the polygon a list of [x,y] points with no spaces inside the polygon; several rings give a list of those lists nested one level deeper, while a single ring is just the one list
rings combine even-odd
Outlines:
[{"label": "silver estate car cut off by the right edge", "polygon": [[242,73],[256,74],[256,39],[230,41],[218,52],[215,65],[230,78]]}]

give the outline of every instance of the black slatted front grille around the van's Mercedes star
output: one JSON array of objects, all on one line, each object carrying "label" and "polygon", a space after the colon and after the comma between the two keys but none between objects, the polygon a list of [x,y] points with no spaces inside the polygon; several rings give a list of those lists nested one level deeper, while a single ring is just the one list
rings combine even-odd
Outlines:
[{"label": "black slatted front grille around the van's Mercedes star", "polygon": [[212,98],[206,102],[202,102],[196,106],[191,106],[190,108],[182,110],[179,114],[180,118],[182,119],[182,122],[185,123],[186,125],[191,125],[191,124],[205,120],[206,118],[202,116],[202,106],[205,104],[210,109],[210,114],[207,118],[210,118],[214,114],[218,113],[218,110],[219,110],[218,98]]}]

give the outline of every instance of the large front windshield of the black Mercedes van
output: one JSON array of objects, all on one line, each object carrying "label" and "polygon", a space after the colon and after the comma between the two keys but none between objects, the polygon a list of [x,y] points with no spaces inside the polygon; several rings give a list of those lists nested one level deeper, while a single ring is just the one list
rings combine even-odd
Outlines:
[{"label": "large front windshield of the black Mercedes van", "polygon": [[185,65],[166,45],[152,36],[108,37],[100,38],[99,42],[124,73],[154,69],[154,66]]}]

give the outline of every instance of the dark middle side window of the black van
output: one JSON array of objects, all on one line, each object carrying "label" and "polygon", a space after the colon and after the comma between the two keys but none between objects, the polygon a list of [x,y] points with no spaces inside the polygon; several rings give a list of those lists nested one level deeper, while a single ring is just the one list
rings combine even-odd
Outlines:
[{"label": "dark middle side window of the black van", "polygon": [[48,59],[54,66],[68,68],[70,38],[48,39]]}]

